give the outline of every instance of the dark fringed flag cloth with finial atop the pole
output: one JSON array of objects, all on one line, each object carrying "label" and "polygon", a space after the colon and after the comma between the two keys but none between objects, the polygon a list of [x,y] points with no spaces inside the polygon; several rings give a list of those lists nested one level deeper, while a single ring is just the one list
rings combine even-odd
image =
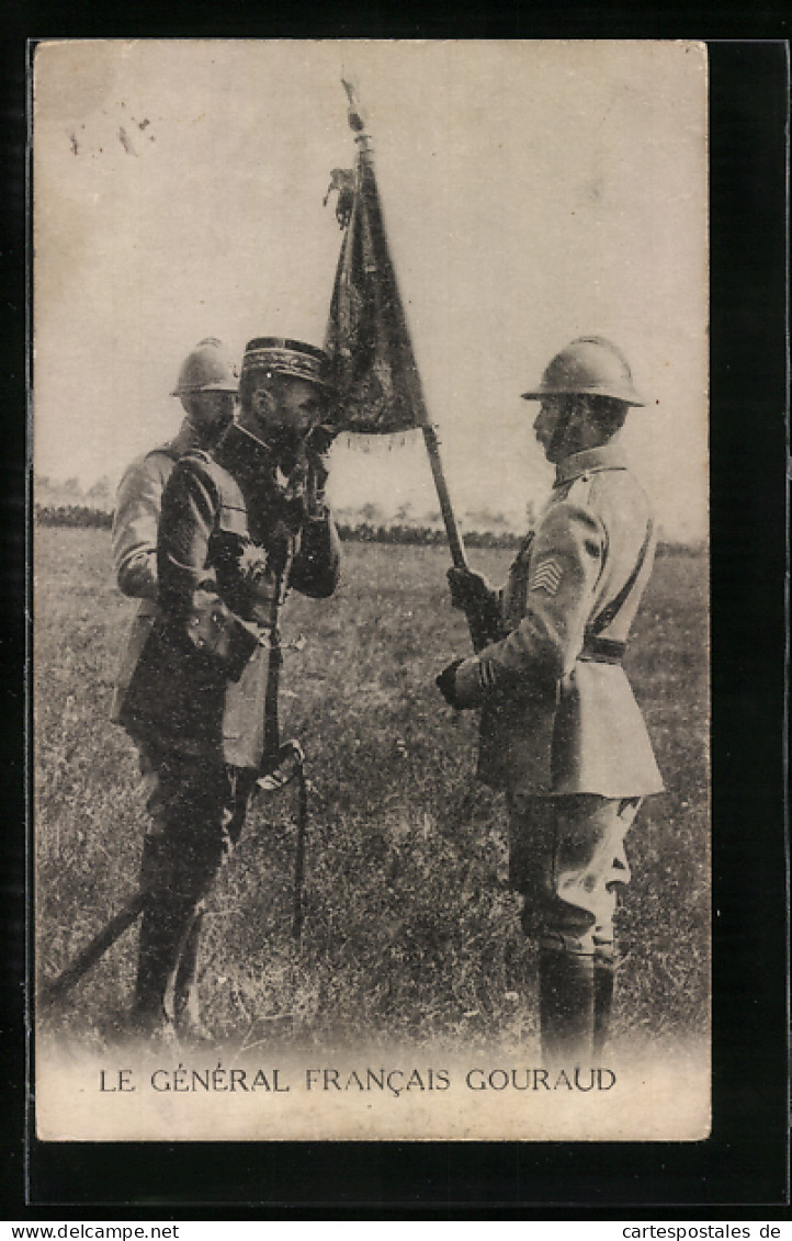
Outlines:
[{"label": "dark fringed flag cloth with finial atop the pole", "polygon": [[354,172],[335,169],[328,191],[339,191],[336,216],[344,241],[324,347],[338,393],[334,424],[339,431],[382,436],[425,427],[428,417],[382,221],[370,139],[354,93],[346,89],[358,166]]}]

